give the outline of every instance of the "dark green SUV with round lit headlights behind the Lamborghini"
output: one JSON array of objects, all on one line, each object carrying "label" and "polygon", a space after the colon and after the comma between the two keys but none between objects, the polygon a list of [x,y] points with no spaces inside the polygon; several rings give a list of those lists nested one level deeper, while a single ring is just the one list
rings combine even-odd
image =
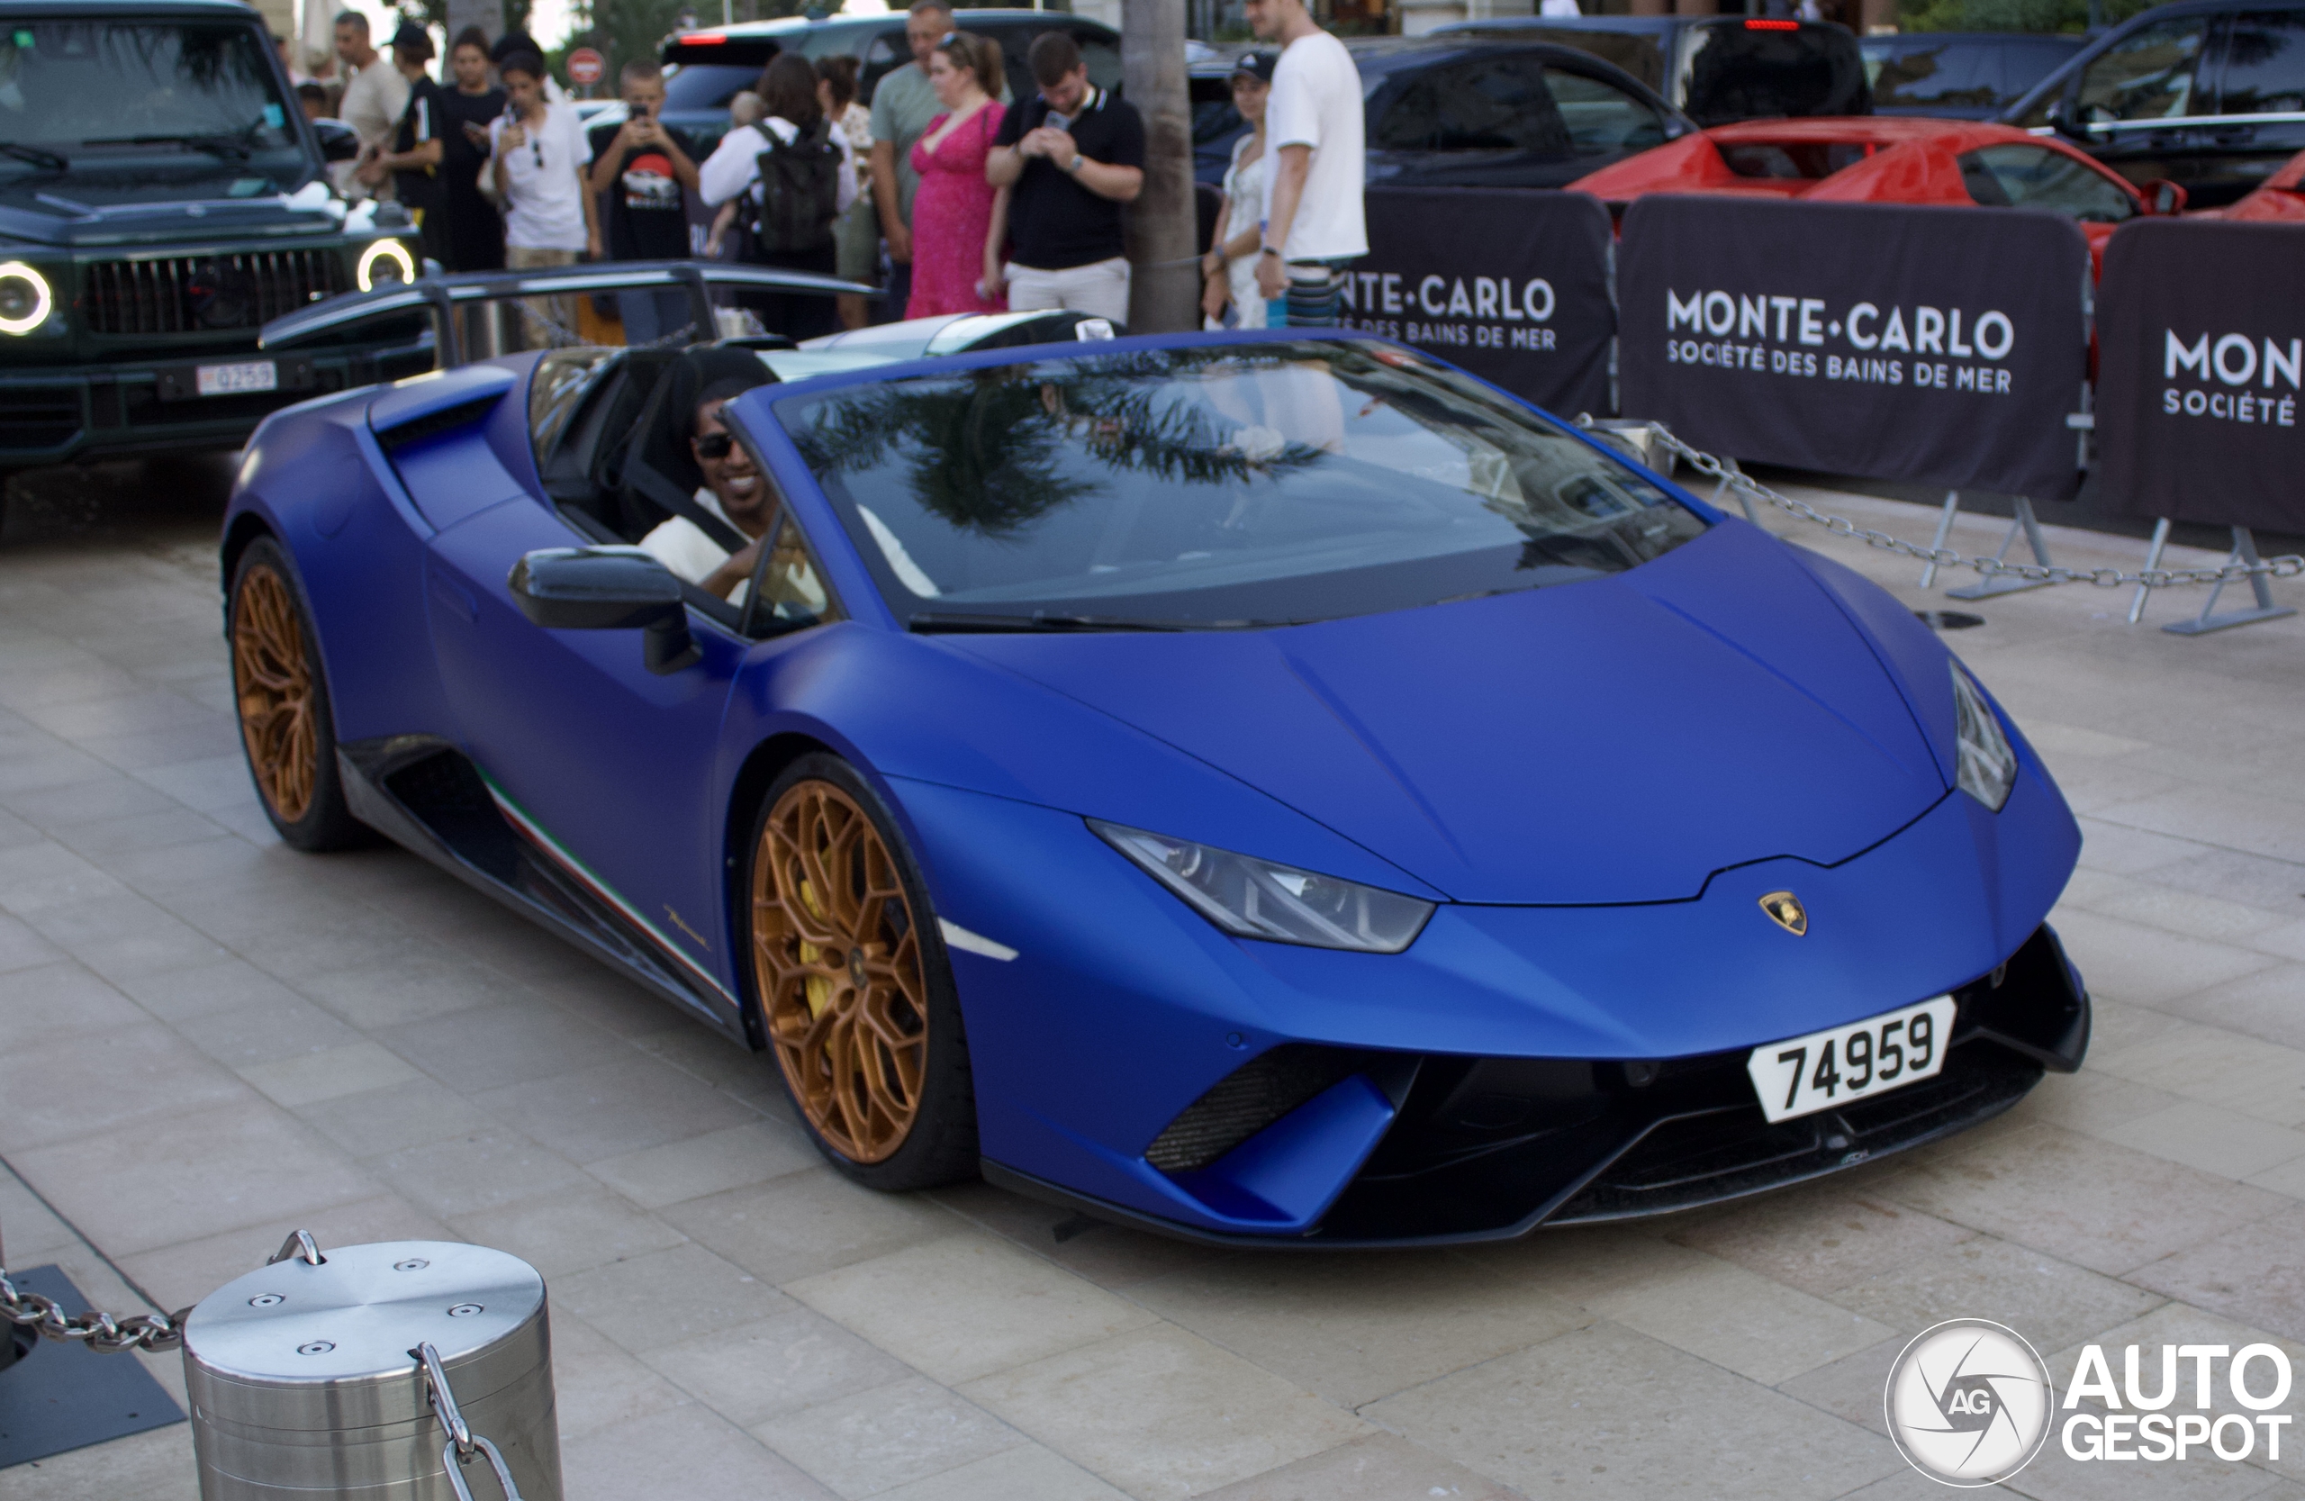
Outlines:
[{"label": "dark green SUV with round lit headlights behind the Lamborghini", "polygon": [[265,413],[431,369],[426,325],[265,355],[307,302],[408,279],[235,0],[0,0],[0,473],[235,447]]}]

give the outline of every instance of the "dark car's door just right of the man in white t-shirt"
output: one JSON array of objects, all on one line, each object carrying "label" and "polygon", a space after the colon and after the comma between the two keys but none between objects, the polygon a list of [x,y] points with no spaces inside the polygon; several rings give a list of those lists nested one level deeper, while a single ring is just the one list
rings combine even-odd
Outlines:
[{"label": "dark car's door just right of the man in white t-shirt", "polygon": [[1563,187],[1584,175],[1535,53],[1411,74],[1369,131],[1369,180],[1397,187]]}]

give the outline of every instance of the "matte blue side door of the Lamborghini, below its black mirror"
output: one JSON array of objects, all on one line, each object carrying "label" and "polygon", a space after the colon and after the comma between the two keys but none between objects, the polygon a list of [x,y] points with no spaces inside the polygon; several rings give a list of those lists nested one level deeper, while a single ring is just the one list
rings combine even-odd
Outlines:
[{"label": "matte blue side door of the Lamborghini, below its black mirror", "polygon": [[721,950],[717,740],[747,641],[689,609],[701,659],[657,676],[641,632],[546,632],[509,590],[523,553],[583,546],[535,496],[479,510],[426,546],[440,687],[498,807],[560,872],[652,941],[710,1019],[740,1031]]}]

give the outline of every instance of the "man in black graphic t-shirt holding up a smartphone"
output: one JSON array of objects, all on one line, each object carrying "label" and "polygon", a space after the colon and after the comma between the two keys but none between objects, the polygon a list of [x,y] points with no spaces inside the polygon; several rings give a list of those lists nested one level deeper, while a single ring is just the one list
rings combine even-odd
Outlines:
[{"label": "man in black graphic t-shirt holding up a smartphone", "polygon": [[[622,125],[590,131],[590,189],[606,208],[609,261],[687,261],[689,212],[685,194],[696,191],[696,152],[689,138],[664,125],[664,69],[634,58],[618,71],[625,97]],[[625,318],[625,344],[655,344],[689,325],[689,295],[680,288],[641,288],[615,295]]]}]

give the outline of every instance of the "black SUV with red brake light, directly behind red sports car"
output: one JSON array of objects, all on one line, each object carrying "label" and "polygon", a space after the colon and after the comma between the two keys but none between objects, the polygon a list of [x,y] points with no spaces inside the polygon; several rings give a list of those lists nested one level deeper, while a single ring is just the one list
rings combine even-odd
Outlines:
[{"label": "black SUV with red brake light, directly behind red sports car", "polygon": [[1625,69],[1696,125],[1872,113],[1858,39],[1832,21],[1514,16],[1459,21],[1434,35],[1574,46]]}]

